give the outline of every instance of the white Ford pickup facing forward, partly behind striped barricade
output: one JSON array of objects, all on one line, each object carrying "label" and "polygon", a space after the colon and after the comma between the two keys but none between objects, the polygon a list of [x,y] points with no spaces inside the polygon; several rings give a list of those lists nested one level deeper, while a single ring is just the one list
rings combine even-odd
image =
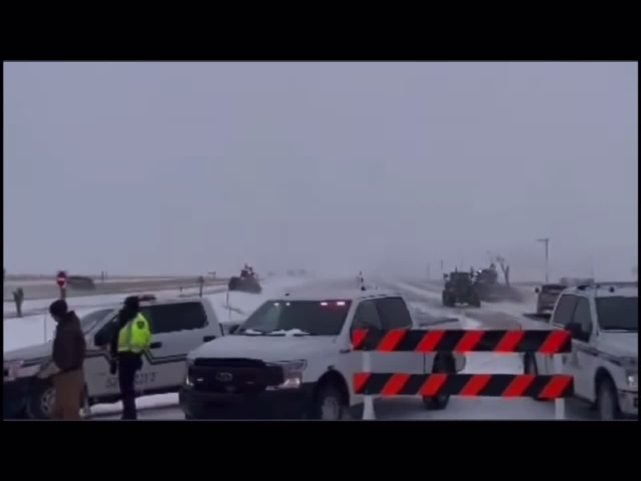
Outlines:
[{"label": "white Ford pickup facing forward, partly behind striped barricade", "polygon": [[[179,398],[187,419],[312,418],[359,416],[353,351],[356,328],[419,326],[400,294],[372,290],[307,291],[272,298],[232,335],[189,353]],[[370,371],[423,374],[462,371],[459,354],[370,353]],[[443,409],[448,396],[425,398]],[[356,409],[354,409],[356,408]]]}]

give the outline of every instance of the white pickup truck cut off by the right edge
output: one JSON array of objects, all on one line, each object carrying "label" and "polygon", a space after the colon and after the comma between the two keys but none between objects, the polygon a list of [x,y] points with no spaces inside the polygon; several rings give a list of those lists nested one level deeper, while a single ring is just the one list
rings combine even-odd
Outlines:
[{"label": "white pickup truck cut off by the right edge", "polygon": [[[601,419],[638,417],[637,285],[565,289],[548,323],[572,333],[572,353],[562,362],[576,397],[597,407]],[[554,374],[549,356],[525,355],[524,366],[526,374]]]}]

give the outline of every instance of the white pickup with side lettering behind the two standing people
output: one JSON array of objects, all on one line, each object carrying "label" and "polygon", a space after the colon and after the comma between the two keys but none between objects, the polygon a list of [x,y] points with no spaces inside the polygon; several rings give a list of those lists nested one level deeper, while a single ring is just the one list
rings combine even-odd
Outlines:
[{"label": "white pickup with side lettering behind the two standing people", "polygon": [[[185,378],[187,353],[203,342],[223,335],[206,298],[155,300],[142,298],[142,313],[149,319],[152,344],[136,374],[138,396],[176,392]],[[107,351],[118,308],[96,310],[80,319],[87,341],[85,382],[87,405],[120,398],[117,375],[109,372]],[[47,419],[54,401],[51,341],[4,353],[4,418]]]}]

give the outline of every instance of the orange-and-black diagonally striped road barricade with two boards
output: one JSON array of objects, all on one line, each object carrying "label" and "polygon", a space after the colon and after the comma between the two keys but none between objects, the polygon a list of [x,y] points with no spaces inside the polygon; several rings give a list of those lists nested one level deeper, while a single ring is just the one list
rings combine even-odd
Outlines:
[{"label": "orange-and-black diagonally striped road barricade with two boards", "polygon": [[354,375],[354,392],[365,396],[363,419],[374,419],[372,396],[493,396],[555,400],[555,418],[565,418],[565,398],[574,394],[569,375],[371,373],[371,351],[381,353],[542,353],[553,356],[562,371],[562,353],[572,351],[569,331],[553,330],[417,330],[362,329],[353,335],[354,350],[363,353],[363,372]]}]

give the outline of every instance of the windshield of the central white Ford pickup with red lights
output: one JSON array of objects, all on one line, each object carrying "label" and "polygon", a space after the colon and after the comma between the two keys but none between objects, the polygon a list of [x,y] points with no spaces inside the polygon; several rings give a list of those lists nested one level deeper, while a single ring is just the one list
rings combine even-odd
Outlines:
[{"label": "windshield of the central white Ford pickup with red lights", "polygon": [[238,335],[338,335],[347,317],[351,301],[288,301],[265,302],[235,334]]}]

